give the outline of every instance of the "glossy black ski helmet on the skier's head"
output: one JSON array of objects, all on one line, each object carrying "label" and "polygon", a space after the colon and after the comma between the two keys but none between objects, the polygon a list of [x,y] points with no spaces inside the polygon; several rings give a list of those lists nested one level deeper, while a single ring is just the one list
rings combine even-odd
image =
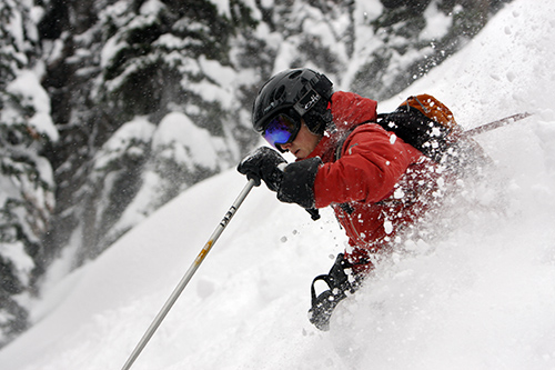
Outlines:
[{"label": "glossy black ski helmet on the skier's head", "polygon": [[327,103],[332,82],[322,73],[307,68],[292,69],[272,77],[260,89],[252,108],[254,130],[264,132],[270,119],[286,112],[301,124],[304,119],[314,133],[323,133],[331,122]]}]

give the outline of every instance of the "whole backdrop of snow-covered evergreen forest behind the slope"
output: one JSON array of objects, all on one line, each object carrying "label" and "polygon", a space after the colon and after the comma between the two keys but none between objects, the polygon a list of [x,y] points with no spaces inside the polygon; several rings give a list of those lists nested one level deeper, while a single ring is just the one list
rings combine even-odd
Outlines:
[{"label": "whole backdrop of snow-covered evergreen forest behind the slope", "polygon": [[508,0],[0,3],[0,347],[65,273],[260,139],[260,86],[294,67],[394,97]]}]

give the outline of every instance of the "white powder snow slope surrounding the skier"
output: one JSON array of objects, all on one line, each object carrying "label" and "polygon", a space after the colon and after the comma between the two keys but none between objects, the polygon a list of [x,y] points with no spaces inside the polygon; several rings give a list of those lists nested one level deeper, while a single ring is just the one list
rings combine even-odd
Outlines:
[{"label": "white powder snow slope surrounding the skier", "polygon": [[[532,7],[531,4],[534,4]],[[497,162],[423,226],[334,317],[306,320],[310,282],[345,239],[265,188],[248,197],[133,369],[554,369],[555,7],[516,0],[464,50],[380,107],[430,92]],[[501,179],[501,180],[500,180]],[[0,369],[120,369],[245,180],[189,189],[46,291]],[[503,194],[503,204],[496,200]]]}]

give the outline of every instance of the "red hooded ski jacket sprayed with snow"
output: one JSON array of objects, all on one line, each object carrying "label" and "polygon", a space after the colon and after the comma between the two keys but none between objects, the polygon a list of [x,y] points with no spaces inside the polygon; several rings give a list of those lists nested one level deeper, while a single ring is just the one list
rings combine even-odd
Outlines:
[{"label": "red hooded ski jacket sprayed with snow", "polygon": [[352,92],[331,99],[336,130],[309,158],[320,157],[314,181],[316,208],[332,206],[350,246],[346,257],[372,267],[371,254],[386,251],[400,232],[428,208],[436,190],[435,163],[376,123],[377,103]]}]

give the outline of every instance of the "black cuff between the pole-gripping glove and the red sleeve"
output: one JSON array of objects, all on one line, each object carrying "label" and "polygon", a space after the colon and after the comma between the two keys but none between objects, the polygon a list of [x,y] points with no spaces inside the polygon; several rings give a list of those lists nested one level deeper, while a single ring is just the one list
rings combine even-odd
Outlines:
[{"label": "black cuff between the pole-gripping glove and the red sleeve", "polygon": [[317,157],[287,164],[278,190],[278,199],[303,208],[314,208],[314,180],[320,164],[322,160]]}]

